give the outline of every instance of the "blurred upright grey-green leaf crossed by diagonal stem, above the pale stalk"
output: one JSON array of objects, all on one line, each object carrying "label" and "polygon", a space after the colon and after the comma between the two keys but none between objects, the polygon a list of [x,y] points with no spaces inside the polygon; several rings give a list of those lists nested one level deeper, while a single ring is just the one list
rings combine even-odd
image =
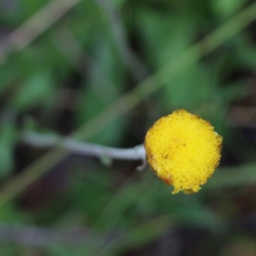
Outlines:
[{"label": "blurred upright grey-green leaf crossed by diagonal stem, above the pale stalk", "polygon": [[[121,95],[124,83],[124,71],[115,54],[115,49],[108,42],[100,40],[95,44],[95,65],[84,88],[84,99],[77,113],[78,126],[90,121],[101,111],[108,108]],[[104,145],[117,146],[124,135],[124,118],[118,118],[102,127],[90,141]]]}]

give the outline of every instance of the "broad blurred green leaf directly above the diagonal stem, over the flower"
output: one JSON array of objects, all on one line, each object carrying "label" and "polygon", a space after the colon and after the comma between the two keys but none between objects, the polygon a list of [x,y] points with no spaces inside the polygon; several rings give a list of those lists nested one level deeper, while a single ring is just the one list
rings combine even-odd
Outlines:
[{"label": "broad blurred green leaf directly above the diagonal stem, over the flower", "polygon": [[182,54],[193,40],[193,17],[143,11],[137,13],[137,19],[143,51],[156,70]]}]

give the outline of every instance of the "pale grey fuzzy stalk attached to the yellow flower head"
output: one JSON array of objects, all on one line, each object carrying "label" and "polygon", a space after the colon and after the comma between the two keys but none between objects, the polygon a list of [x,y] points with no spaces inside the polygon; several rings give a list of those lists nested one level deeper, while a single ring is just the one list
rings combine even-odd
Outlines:
[{"label": "pale grey fuzzy stalk attached to the yellow flower head", "polygon": [[75,154],[83,154],[84,156],[141,161],[145,161],[146,159],[143,145],[138,145],[134,148],[114,148],[78,141],[71,137],[61,138],[54,134],[40,134],[31,131],[26,131],[22,134],[22,141],[32,147],[38,148],[49,148],[60,144],[63,149]]}]

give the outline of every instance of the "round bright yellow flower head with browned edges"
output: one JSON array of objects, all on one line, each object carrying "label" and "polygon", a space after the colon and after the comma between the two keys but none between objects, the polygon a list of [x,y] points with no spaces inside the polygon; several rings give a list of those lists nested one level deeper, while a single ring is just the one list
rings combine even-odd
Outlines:
[{"label": "round bright yellow flower head with browned edges", "polygon": [[148,130],[147,161],[173,194],[194,193],[220,163],[222,137],[210,122],[185,109],[163,116]]}]

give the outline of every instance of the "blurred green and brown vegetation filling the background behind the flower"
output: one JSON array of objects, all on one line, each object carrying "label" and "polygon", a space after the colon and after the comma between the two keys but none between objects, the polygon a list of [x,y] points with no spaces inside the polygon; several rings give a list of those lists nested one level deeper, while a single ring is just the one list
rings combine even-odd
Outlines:
[{"label": "blurred green and brown vegetation filling the background behind the flower", "polygon": [[[1,0],[0,254],[255,255],[255,20],[246,0]],[[22,140],[134,147],[179,108],[224,138],[194,195]]]}]

